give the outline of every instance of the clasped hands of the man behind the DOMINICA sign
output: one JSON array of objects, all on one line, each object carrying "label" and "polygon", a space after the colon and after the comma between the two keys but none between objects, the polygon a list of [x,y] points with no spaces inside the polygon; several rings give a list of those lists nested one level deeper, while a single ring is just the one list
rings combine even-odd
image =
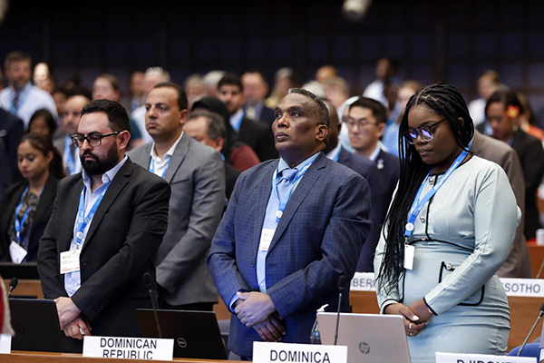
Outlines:
[{"label": "clasped hands of the man behind the DOMINICA sign", "polygon": [[280,341],[286,334],[282,319],[272,299],[262,292],[238,292],[234,312],[248,328],[257,331],[263,341]]}]

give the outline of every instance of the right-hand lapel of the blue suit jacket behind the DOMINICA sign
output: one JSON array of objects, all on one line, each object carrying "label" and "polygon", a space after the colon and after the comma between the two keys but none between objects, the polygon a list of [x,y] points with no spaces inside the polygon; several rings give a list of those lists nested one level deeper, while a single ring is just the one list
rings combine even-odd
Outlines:
[{"label": "right-hand lapel of the blue suit jacket behind the DOMINICA sign", "polygon": [[[286,210],[284,211],[283,216],[281,217],[281,220],[279,221],[279,224],[277,225],[276,232],[274,233],[274,238],[272,239],[272,242],[270,243],[269,250],[272,250],[274,246],[277,244],[277,240],[280,239],[282,234],[286,231],[287,226],[293,219],[293,216],[295,215],[296,210],[300,206],[300,204],[305,200],[306,195],[309,191],[312,190],[314,187],[314,184],[319,179],[319,176],[321,175],[322,169],[326,166],[326,156],[322,152],[316,159],[316,161],[310,166],[306,174],[302,177],[300,182],[298,183],[298,186],[296,187],[296,190],[291,194],[291,197],[289,198],[289,201],[287,201]],[[263,217],[264,218],[264,217]]]}]

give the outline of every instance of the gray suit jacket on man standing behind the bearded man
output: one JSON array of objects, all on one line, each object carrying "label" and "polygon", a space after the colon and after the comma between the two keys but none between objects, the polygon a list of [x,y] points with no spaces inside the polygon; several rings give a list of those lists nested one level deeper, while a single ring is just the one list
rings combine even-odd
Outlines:
[{"label": "gray suit jacket on man standing behind the bearded man", "polygon": [[[130,152],[149,168],[152,142]],[[172,190],[168,230],[157,254],[157,282],[170,305],[218,302],[206,256],[225,206],[225,171],[219,152],[186,133],[164,179]]]}]

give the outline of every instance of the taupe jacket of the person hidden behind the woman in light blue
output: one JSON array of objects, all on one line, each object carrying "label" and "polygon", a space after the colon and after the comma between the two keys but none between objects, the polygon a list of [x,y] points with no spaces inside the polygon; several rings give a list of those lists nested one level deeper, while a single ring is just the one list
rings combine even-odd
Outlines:
[{"label": "taupe jacket of the person hidden behind the woman in light blue", "polygon": [[530,278],[529,250],[524,236],[523,226],[525,219],[525,182],[518,155],[506,142],[500,142],[490,136],[474,130],[471,152],[476,156],[498,163],[508,175],[510,186],[518,207],[521,210],[521,221],[510,249],[508,258],[504,261],[497,274],[501,278]]}]

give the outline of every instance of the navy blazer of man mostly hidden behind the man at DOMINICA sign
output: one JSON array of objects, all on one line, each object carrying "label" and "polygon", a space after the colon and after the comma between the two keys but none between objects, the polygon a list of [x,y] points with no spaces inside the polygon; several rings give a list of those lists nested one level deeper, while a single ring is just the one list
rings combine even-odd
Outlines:
[{"label": "navy blazer of man mostly hidden behind the man at DOMINICA sign", "polygon": [[372,210],[370,219],[372,225],[368,232],[368,237],[364,241],[359,261],[357,262],[358,272],[374,272],[374,250],[380,240],[380,231],[384,224],[385,212],[387,211],[389,201],[386,199],[384,182],[376,164],[370,159],[354,152],[348,152],[341,148],[338,155],[338,162],[347,166],[354,172],[359,173],[370,186]]}]

